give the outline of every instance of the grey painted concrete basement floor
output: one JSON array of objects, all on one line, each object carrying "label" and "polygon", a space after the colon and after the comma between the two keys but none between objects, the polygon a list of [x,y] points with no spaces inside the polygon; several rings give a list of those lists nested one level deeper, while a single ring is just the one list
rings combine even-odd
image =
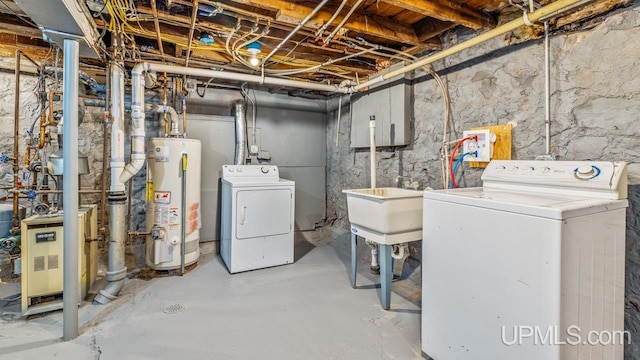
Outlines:
[{"label": "grey painted concrete basement floor", "polygon": [[0,320],[0,359],[421,359],[419,302],[393,293],[382,310],[366,262],[352,289],[339,247],[297,239],[295,264],[234,275],[209,249],[184,277],[83,305],[75,340],[60,340],[61,311]]}]

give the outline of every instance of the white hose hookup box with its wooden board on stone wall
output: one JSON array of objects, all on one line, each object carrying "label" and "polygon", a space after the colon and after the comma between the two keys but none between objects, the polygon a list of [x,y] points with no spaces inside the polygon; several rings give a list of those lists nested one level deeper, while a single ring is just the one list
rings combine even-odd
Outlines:
[{"label": "white hose hookup box with its wooden board on stone wall", "polygon": [[491,160],[511,160],[511,128],[511,123],[507,123],[464,131],[464,136],[473,136],[474,141],[466,141],[463,151],[474,155],[477,152],[477,156],[467,156],[464,161],[469,167],[485,168]]}]

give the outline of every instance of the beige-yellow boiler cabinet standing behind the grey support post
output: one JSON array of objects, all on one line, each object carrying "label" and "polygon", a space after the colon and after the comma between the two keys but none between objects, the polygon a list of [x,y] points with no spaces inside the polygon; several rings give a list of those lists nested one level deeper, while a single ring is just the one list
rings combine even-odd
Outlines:
[{"label": "beige-yellow boiler cabinet standing behind the grey support post", "polygon": [[[22,315],[62,308],[63,215],[34,215],[22,221]],[[96,206],[78,211],[78,295],[83,299],[97,273]]]}]

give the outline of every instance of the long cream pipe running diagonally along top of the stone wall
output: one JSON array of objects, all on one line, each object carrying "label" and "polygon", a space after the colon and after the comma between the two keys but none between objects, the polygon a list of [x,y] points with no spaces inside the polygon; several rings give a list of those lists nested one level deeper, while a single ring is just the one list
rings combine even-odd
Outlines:
[{"label": "long cream pipe running diagonally along top of the stone wall", "polygon": [[[556,16],[562,12],[571,10],[577,6],[589,3],[593,0],[558,0],[555,2],[552,2],[549,5],[546,5],[530,14],[527,15],[527,19],[529,22],[536,22],[536,21],[544,21],[546,19],[549,19],[553,16]],[[368,87],[370,87],[371,85],[383,82],[385,80],[394,78],[398,75],[402,75],[405,74],[409,71],[413,71],[415,69],[418,69],[422,66],[425,65],[429,65],[435,61],[438,60],[442,60],[448,56],[457,54],[465,49],[468,49],[472,46],[481,44],[485,41],[491,40],[497,36],[503,35],[505,33],[508,33],[510,31],[513,31],[521,26],[525,25],[525,19],[524,17],[519,17],[515,20],[512,20],[504,25],[498,26],[492,30],[489,30],[485,33],[482,33],[472,39],[469,39],[467,41],[464,41],[462,43],[459,43],[457,45],[454,45],[448,49],[442,50],[440,52],[437,52],[431,56],[427,56],[421,60],[416,61],[413,64],[407,65],[405,67],[402,67],[400,69],[394,70],[394,71],[390,71],[384,75],[380,75],[377,76],[367,82],[364,82],[362,84],[356,85],[352,88],[353,91],[360,91],[363,89],[366,89]]]}]

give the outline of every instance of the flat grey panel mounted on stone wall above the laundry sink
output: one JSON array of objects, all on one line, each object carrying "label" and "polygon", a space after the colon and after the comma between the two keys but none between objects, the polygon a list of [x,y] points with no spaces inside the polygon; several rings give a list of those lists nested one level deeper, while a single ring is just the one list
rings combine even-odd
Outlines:
[{"label": "flat grey panel mounted on stone wall above the laundry sink", "polygon": [[[393,69],[393,67],[392,67]],[[411,143],[411,85],[408,75],[376,84],[351,104],[351,147],[369,147],[369,119],[375,116],[376,146]]]}]

